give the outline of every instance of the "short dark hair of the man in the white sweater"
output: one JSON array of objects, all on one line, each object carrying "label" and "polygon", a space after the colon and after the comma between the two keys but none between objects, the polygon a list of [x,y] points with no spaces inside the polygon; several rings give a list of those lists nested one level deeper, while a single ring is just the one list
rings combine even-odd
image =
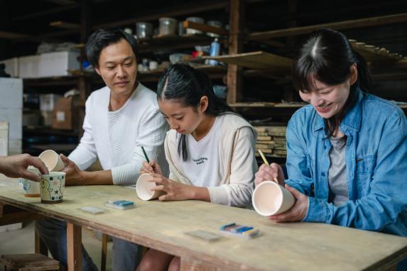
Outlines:
[{"label": "short dark hair of the man in the white sweater", "polygon": [[97,31],[94,31],[92,35],[89,35],[89,38],[87,39],[87,60],[89,60],[93,67],[98,67],[100,52],[111,44],[119,43],[121,39],[124,39],[129,43],[137,58],[137,40],[133,35],[126,33],[121,29],[98,29]]}]

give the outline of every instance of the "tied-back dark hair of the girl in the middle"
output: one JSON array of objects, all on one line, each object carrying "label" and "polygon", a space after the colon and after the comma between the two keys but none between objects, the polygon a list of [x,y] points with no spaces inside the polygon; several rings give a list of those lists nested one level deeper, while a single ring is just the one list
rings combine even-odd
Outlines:
[{"label": "tied-back dark hair of the girl in the middle", "polygon": [[[183,106],[192,106],[196,110],[202,96],[207,96],[208,99],[205,114],[219,116],[228,112],[234,112],[230,106],[215,96],[212,83],[207,74],[200,70],[195,70],[188,65],[171,65],[165,70],[158,81],[158,100],[174,99],[183,104]],[[188,160],[185,135],[181,135],[178,141],[178,155],[182,155],[184,161]]]}]

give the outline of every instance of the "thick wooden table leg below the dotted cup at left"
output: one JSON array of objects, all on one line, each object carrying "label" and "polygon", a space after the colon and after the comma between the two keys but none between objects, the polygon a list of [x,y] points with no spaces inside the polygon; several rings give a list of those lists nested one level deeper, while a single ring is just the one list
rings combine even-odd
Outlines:
[{"label": "thick wooden table leg below the dotted cup at left", "polygon": [[82,228],[67,222],[68,271],[82,270]]}]

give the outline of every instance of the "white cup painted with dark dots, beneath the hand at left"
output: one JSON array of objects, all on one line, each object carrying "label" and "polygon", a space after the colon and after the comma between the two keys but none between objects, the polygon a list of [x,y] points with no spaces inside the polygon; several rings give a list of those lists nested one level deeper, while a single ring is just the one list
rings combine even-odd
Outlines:
[{"label": "white cup painted with dark dots, beneath the hand at left", "polygon": [[65,172],[49,172],[49,174],[41,175],[41,203],[57,204],[63,201],[65,176]]}]

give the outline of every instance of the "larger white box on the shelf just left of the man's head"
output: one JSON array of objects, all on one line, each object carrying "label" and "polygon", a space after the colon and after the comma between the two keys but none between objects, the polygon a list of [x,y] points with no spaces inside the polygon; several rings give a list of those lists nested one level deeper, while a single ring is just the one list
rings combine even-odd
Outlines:
[{"label": "larger white box on the shelf just left of the man's head", "polygon": [[41,54],[40,77],[67,76],[67,70],[79,70],[79,52],[47,52]]}]

